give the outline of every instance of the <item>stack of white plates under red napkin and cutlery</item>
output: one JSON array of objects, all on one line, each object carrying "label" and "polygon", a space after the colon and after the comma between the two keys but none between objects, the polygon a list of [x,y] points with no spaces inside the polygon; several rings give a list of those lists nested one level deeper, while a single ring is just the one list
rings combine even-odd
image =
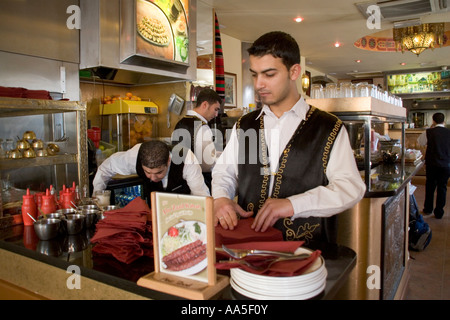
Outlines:
[{"label": "stack of white plates under red napkin and cutlery", "polygon": [[258,275],[231,269],[231,287],[256,300],[305,300],[320,294],[326,285],[327,269],[320,256],[303,274],[293,277]]}]

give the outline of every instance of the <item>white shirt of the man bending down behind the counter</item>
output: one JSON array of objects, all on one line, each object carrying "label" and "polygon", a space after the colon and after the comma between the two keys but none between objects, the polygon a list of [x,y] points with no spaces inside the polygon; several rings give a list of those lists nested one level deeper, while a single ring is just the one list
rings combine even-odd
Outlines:
[{"label": "white shirt of the man bending down behind the counter", "polygon": [[[138,143],[127,151],[120,151],[113,153],[98,167],[95,174],[93,186],[94,192],[97,190],[105,190],[108,182],[116,174],[120,175],[134,175],[136,173],[136,161],[141,144]],[[172,156],[172,155],[171,155]],[[170,167],[167,170],[166,176],[162,179],[163,187],[167,187]],[[188,150],[184,167],[183,179],[186,180],[191,194],[197,196],[209,196],[208,187],[203,179],[202,170],[198,164],[197,159],[191,150]]]}]

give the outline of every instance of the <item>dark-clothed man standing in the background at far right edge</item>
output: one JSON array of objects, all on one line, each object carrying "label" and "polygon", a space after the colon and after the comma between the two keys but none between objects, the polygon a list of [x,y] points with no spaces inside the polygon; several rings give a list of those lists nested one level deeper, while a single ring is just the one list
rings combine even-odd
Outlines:
[{"label": "dark-clothed man standing in the background at far right edge", "polygon": [[[425,203],[423,213],[433,213],[437,219],[444,215],[447,182],[450,176],[450,130],[445,127],[445,116],[441,112],[433,114],[433,124],[419,138],[426,145],[425,153]],[[434,193],[436,191],[436,205]]]}]

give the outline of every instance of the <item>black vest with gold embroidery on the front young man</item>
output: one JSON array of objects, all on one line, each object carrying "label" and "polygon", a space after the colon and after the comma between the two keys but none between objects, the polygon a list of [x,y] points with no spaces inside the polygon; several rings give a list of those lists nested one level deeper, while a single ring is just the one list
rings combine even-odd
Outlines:
[{"label": "black vest with gold embroidery on the front young man", "polygon": [[[245,115],[236,125],[239,141],[238,203],[255,215],[268,197],[270,181],[264,114],[257,119],[259,114],[260,111],[255,111]],[[284,199],[328,184],[328,159],[341,127],[342,121],[334,115],[310,107],[280,159],[276,160],[279,169],[274,177],[271,198]],[[256,146],[253,141],[257,141]],[[274,227],[283,232],[285,240],[334,242],[335,223],[334,217],[285,218],[279,219]]]}]

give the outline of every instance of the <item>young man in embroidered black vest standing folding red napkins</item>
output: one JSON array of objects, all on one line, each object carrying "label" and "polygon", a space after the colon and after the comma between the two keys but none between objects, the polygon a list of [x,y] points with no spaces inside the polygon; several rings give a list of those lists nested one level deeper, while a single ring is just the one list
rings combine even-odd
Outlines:
[{"label": "young man in embroidered black vest standing folding red napkins", "polygon": [[248,51],[263,108],[238,120],[214,167],[215,223],[234,229],[254,216],[255,231],[275,226],[286,240],[329,241],[326,218],[365,193],[347,131],[300,96],[300,50],[290,35],[270,32]]}]

